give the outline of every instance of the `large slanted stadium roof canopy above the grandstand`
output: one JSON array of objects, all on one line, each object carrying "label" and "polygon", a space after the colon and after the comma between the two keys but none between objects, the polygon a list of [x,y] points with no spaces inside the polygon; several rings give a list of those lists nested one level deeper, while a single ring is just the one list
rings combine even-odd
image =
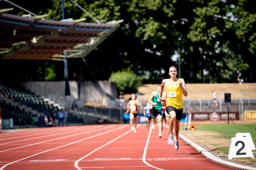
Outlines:
[{"label": "large slanted stadium roof canopy above the grandstand", "polygon": [[[2,10],[3,11],[3,10]],[[83,58],[118,28],[120,21],[82,23],[22,17],[0,11],[0,59]]]}]

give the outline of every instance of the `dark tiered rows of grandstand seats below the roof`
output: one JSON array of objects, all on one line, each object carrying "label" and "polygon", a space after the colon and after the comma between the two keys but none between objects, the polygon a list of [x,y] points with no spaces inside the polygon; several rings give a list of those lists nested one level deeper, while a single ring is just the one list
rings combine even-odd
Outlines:
[{"label": "dark tiered rows of grandstand seats below the roof", "polygon": [[[62,108],[49,99],[35,95],[17,85],[10,87],[2,83],[0,83],[0,107],[2,119],[11,118],[13,127],[33,127],[33,116],[39,117],[42,113],[47,115],[51,111],[57,113]],[[67,123],[83,124],[82,120],[73,116],[72,113],[69,113]]]}]

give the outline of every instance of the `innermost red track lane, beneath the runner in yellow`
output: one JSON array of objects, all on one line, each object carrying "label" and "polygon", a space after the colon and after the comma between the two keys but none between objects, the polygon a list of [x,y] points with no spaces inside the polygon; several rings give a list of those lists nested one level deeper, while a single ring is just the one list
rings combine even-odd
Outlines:
[{"label": "innermost red track lane, beneath the runner in yellow", "polygon": [[[179,139],[179,149],[175,150],[174,145],[167,144],[167,130],[163,130],[163,137],[158,138],[158,130],[151,131],[151,137],[147,148],[145,160],[156,169],[196,169],[196,170],[231,170],[233,168],[216,164],[205,158],[201,153]],[[157,141],[157,142],[155,142]]]}]

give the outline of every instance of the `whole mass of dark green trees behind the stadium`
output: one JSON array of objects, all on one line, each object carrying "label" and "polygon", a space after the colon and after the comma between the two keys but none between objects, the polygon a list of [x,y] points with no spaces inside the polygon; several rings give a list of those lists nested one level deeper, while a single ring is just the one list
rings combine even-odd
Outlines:
[{"label": "whole mass of dark green trees behind the stadium", "polygon": [[[108,79],[112,72],[131,68],[146,75],[144,82],[158,83],[180,61],[186,82],[236,82],[237,69],[245,82],[256,82],[254,0],[75,1],[102,23],[124,22],[86,57],[88,65],[79,59],[69,61],[70,77],[76,71],[84,79],[92,79],[88,72],[96,79]],[[33,3],[26,6],[34,13],[62,19],[61,0],[47,0],[42,8],[41,2],[29,2]],[[95,22],[70,0],[64,0],[64,6],[65,18]]]}]

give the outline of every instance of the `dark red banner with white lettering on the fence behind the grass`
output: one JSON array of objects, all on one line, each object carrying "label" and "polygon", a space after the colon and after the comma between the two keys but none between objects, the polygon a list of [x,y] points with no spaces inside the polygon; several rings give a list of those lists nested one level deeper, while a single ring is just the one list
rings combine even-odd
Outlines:
[{"label": "dark red banner with white lettering on the fence behind the grass", "polygon": [[[191,112],[192,120],[226,120],[228,112]],[[239,120],[239,112],[229,112],[229,118]]]}]

